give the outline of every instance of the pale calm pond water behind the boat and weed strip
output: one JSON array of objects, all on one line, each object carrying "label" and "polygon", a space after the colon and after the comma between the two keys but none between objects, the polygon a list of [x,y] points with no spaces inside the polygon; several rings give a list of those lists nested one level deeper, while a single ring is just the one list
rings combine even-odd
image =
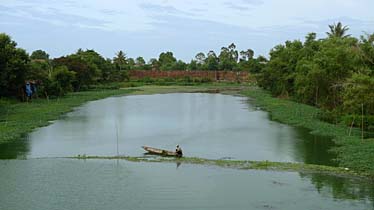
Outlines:
[{"label": "pale calm pond water behind the boat and weed strip", "polygon": [[329,138],[271,121],[247,98],[208,93],[90,102],[15,144],[3,146],[3,156],[111,156],[117,149],[142,156],[143,145],[173,150],[179,144],[189,157],[334,164]]}]

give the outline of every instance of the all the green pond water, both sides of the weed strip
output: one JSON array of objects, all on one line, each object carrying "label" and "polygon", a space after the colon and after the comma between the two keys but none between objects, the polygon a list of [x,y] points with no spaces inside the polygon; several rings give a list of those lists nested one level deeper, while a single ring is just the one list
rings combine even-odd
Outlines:
[{"label": "all the green pond water, both sides of the weed strip", "polygon": [[243,97],[115,97],[87,103],[20,141],[0,145],[1,159],[10,159],[0,160],[0,210],[374,209],[374,187],[365,180],[58,158],[117,155],[117,148],[120,155],[142,156],[142,145],[176,144],[186,156],[334,165],[330,139],[271,121]]}]

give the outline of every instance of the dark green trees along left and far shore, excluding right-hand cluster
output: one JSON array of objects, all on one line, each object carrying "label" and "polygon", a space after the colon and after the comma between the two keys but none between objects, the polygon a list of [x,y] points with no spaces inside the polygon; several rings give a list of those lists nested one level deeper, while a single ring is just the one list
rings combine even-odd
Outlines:
[{"label": "dark green trees along left and far shore, excluding right-hand cluster", "polygon": [[48,96],[62,96],[69,91],[80,91],[91,85],[128,80],[131,70],[235,70],[259,72],[265,65],[262,56],[254,58],[253,50],[236,50],[235,44],[222,47],[217,56],[198,53],[190,63],[177,60],[172,52],[162,52],[148,62],[143,57],[128,58],[123,51],[112,59],[92,49],[82,50],[51,59],[43,50],[29,55],[7,34],[0,34],[0,97],[16,96],[26,81],[38,84],[38,92]]}]

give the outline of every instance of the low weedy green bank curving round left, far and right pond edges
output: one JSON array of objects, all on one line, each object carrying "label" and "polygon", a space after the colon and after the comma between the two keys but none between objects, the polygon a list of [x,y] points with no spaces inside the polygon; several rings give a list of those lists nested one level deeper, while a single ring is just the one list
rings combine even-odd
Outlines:
[{"label": "low weedy green bank curving round left, far and right pond edges", "polygon": [[[353,130],[349,136],[349,129],[345,126],[333,125],[319,120],[320,110],[290,100],[274,98],[266,91],[259,88],[241,86],[239,84],[205,84],[198,86],[143,86],[130,87],[118,90],[95,90],[71,93],[59,99],[47,101],[46,99],[33,100],[31,103],[0,100],[0,144],[20,139],[23,135],[33,129],[48,125],[50,121],[58,119],[62,114],[71,111],[87,101],[102,99],[114,95],[123,94],[160,94],[175,92],[227,92],[254,99],[254,103],[271,113],[273,120],[286,124],[300,126],[310,129],[313,133],[331,136],[337,145],[335,152],[338,155],[338,162],[341,167],[349,168],[358,174],[365,174],[374,177],[374,140],[362,141],[359,131]],[[185,161],[192,161],[186,159]],[[196,159],[195,162],[199,160]],[[219,164],[215,162],[214,164]],[[209,161],[203,161],[205,163]],[[222,162],[226,164],[226,162]],[[235,163],[235,162],[234,162]],[[230,162],[232,165],[233,163]],[[314,165],[312,165],[315,167]],[[272,162],[251,162],[250,168],[272,168],[287,170],[304,168],[304,164],[272,163]],[[312,167],[306,166],[309,169]],[[308,170],[309,170],[308,169]],[[333,167],[318,166],[317,171],[326,169],[332,171]],[[334,169],[335,170],[335,169]],[[340,171],[340,168],[336,168]],[[346,172],[346,170],[344,170]],[[348,173],[347,172],[347,173]]]}]

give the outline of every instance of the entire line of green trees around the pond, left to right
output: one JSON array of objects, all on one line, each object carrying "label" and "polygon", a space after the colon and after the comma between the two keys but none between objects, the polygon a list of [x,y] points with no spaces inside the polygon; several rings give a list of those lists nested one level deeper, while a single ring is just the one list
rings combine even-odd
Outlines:
[{"label": "entire line of green trees around the pond, left to right", "polygon": [[173,52],[162,52],[146,62],[143,57],[128,58],[123,51],[109,59],[82,49],[51,59],[43,50],[29,55],[2,33],[0,97],[15,96],[26,80],[42,84],[38,88],[44,95],[61,96],[95,84],[128,80],[131,70],[249,71],[273,95],[321,108],[325,111],[321,117],[327,121],[364,124],[366,130],[373,130],[374,34],[356,38],[341,23],[329,28],[326,38],[309,33],[304,41],[275,46],[269,59],[255,58],[251,49],[239,52],[232,43],[218,54],[199,52],[189,63],[178,60]]}]

